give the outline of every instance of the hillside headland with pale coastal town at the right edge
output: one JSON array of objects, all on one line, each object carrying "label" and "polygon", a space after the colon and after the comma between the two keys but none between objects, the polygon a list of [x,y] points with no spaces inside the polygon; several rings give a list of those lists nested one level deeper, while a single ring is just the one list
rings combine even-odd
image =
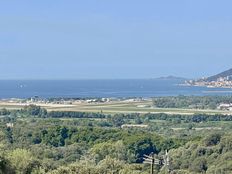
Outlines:
[{"label": "hillside headland with pale coastal town at the right edge", "polygon": [[204,86],[208,88],[232,88],[232,69],[206,78],[186,80],[185,85]]}]

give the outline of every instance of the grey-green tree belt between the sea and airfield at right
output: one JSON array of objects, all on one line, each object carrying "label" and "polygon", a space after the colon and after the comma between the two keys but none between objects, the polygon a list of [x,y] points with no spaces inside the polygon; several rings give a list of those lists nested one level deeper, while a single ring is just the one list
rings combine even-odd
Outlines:
[{"label": "grey-green tree belt between the sea and airfield at right", "polygon": [[159,108],[216,109],[220,103],[232,103],[232,96],[177,96],[153,98]]}]

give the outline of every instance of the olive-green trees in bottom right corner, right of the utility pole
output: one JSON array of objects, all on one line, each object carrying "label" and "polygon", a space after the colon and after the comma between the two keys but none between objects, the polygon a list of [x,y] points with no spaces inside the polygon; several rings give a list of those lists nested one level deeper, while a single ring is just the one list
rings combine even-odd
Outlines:
[{"label": "olive-green trees in bottom right corner, right of the utility pole", "polygon": [[232,136],[210,134],[199,142],[171,150],[170,155],[171,168],[177,173],[231,173]]}]

